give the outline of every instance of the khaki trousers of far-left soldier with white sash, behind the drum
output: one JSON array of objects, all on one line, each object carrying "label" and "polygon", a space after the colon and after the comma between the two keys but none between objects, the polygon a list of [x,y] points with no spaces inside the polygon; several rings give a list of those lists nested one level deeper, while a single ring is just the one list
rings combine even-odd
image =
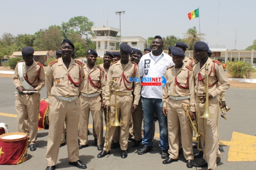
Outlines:
[{"label": "khaki trousers of far-left soldier with white sash, behind the drum", "polygon": [[[36,143],[36,136],[38,133],[38,114],[39,93],[32,95],[15,94],[15,109],[17,112],[17,132],[27,133],[26,128],[29,129],[29,144]],[[28,123],[27,121],[28,120]]]}]

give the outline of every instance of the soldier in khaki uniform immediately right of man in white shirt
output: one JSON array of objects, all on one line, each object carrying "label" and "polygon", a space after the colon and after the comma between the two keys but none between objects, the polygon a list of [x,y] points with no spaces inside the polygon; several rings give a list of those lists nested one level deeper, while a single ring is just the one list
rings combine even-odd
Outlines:
[{"label": "soldier in khaki uniform immediately right of man in white shirt", "polygon": [[192,129],[186,119],[183,106],[189,105],[189,114],[195,119],[195,89],[193,68],[183,63],[184,52],[172,48],[172,60],[175,66],[167,68],[166,86],[163,88],[163,113],[168,121],[169,158],[163,164],[178,161],[179,131],[181,132],[183,155],[188,168],[193,167]]}]

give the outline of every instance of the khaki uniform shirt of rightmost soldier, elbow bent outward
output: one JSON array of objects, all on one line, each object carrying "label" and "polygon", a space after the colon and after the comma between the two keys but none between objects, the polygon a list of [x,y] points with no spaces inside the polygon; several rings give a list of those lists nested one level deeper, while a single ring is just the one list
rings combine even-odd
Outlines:
[{"label": "khaki uniform shirt of rightmost soldier, elbow bent outward", "polygon": [[[230,87],[230,84],[227,80],[226,74],[222,68],[221,64],[217,64],[212,61],[212,59],[208,58],[206,64],[209,65],[209,85],[214,84],[217,80],[218,83],[215,83],[212,87],[209,87],[209,94],[212,97],[219,96],[223,94]],[[200,62],[198,62],[193,70],[194,70],[194,79],[195,79],[195,93],[205,92],[203,81],[198,81],[198,73],[200,72],[201,77],[204,78],[205,74],[205,65],[200,68]]]}]

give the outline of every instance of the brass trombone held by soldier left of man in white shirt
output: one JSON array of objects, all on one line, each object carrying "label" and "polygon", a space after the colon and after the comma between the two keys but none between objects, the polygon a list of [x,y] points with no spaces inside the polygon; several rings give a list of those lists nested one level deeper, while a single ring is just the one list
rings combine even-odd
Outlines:
[{"label": "brass trombone held by soldier left of man in white shirt", "polygon": [[[110,140],[110,136],[109,136],[109,131],[110,131],[110,127],[111,126],[122,126],[122,124],[119,122],[118,120],[118,116],[117,116],[117,102],[116,102],[116,82],[111,80],[108,84],[109,87],[109,102],[111,102],[111,92],[114,92],[114,96],[115,96],[115,104],[114,105],[109,105],[109,107],[107,108],[107,114],[106,114],[106,119],[107,119],[107,125],[106,125],[106,135],[105,135],[105,141],[106,141],[106,152],[108,152],[110,150],[111,147],[111,142]],[[111,106],[115,107],[115,119],[114,122],[111,124],[110,122],[110,108]]]}]

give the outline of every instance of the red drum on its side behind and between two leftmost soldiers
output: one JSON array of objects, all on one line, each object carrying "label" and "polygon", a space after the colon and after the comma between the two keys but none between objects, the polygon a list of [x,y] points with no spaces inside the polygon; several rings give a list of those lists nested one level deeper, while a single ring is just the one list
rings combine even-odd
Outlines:
[{"label": "red drum on its side behind and between two leftmost soldiers", "polygon": [[44,129],[49,127],[49,100],[48,98],[44,98],[40,102],[40,110],[38,117],[38,129]]}]

